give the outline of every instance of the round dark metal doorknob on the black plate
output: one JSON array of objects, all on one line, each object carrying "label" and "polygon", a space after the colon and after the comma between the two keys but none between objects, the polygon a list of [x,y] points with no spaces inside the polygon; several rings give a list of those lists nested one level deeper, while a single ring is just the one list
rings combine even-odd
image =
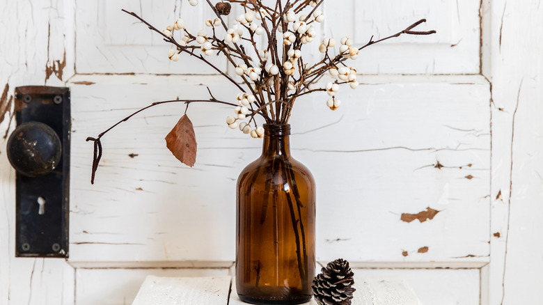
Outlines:
[{"label": "round dark metal doorknob on the black plate", "polygon": [[61,139],[51,127],[40,122],[17,126],[7,148],[11,166],[29,177],[52,172],[61,159]]}]

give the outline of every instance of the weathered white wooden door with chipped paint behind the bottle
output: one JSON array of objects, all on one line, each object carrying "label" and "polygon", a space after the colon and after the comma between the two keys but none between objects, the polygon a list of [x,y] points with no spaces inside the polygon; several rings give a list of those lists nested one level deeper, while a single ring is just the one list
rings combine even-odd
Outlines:
[{"label": "weathered white wooden door with chipped paint behind the bottle", "polygon": [[[182,105],[123,123],[104,136],[90,184],[87,136],[150,102],[203,97],[205,86],[223,99],[237,94],[191,58],[168,61],[169,46],[121,8],[158,28],[181,16],[194,32],[212,14],[184,0],[0,3],[0,84],[72,91],[70,258],[13,256],[15,173],[1,146],[0,304],[130,304],[148,274],[230,273],[235,181],[260,141],[226,127],[228,107],[191,105],[192,169],[163,140]],[[402,276],[423,304],[537,304],[538,1],[336,0],[323,10],[321,35],[359,44],[423,17],[438,33],[365,49],[361,86],[341,94],[337,111],[325,95],[297,102],[292,153],[317,181],[317,260]],[[6,116],[0,127],[13,123]]]}]

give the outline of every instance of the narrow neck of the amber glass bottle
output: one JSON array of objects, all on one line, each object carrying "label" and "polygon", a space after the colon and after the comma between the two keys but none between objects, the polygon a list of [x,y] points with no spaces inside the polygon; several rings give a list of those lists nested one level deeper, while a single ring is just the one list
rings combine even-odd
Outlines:
[{"label": "narrow neck of the amber glass bottle", "polygon": [[265,124],[264,143],[262,143],[262,156],[277,158],[290,157],[290,125]]}]

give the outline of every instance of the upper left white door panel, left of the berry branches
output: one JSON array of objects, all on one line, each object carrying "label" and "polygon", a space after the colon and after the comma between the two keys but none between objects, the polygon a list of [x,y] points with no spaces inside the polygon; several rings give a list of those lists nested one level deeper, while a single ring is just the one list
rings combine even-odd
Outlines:
[{"label": "upper left white door panel, left of the berry branches", "polygon": [[[165,29],[179,17],[184,18],[192,33],[205,29],[203,16],[212,10],[201,3],[155,0],[76,0],[75,69],[78,74],[214,74],[212,68],[187,54],[182,60],[168,60],[168,49],[158,33],[121,11],[122,8],[142,15],[157,29]],[[178,32],[177,32],[178,33]],[[226,61],[217,56],[207,58],[226,70]]]}]

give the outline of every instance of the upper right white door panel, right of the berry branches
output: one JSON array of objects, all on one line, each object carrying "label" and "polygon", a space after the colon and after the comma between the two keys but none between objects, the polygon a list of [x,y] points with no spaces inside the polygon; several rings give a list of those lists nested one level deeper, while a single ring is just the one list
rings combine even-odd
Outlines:
[{"label": "upper right white door panel, right of the berry branches", "polygon": [[[361,51],[354,63],[365,74],[478,74],[480,1],[325,1],[325,35],[354,38],[357,46],[390,36],[418,19],[431,36],[400,36]],[[338,5],[338,3],[341,3]],[[353,9],[354,8],[354,9]]]}]

